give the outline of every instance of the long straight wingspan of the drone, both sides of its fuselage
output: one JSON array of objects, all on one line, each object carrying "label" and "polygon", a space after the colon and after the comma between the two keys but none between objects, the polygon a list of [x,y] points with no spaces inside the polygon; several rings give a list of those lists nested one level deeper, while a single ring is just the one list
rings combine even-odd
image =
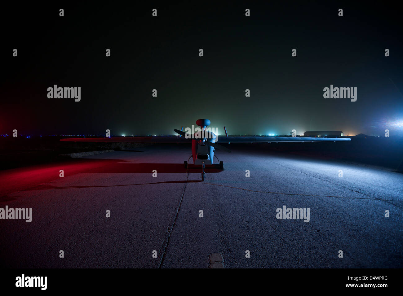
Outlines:
[{"label": "long straight wingspan of the drone, both sides of its fuselage", "polygon": [[[190,139],[177,136],[154,137],[112,137],[112,138],[69,138],[62,142],[133,142],[133,143],[189,143]],[[277,143],[277,142],[322,142],[351,141],[350,138],[308,138],[308,137],[220,137],[216,143]]]}]

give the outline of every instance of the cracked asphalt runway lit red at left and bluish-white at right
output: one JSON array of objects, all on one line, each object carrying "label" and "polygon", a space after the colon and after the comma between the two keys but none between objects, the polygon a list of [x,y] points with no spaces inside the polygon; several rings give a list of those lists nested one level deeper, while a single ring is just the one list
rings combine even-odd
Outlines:
[{"label": "cracked asphalt runway lit red at left and bluish-white at right", "polygon": [[[225,268],[403,267],[403,174],[239,148],[216,150],[224,170],[201,182],[183,167],[190,153],[152,146],[0,171],[0,208],[32,208],[30,223],[0,219],[0,267],[208,268],[213,253]],[[309,208],[309,222],[277,219],[284,206]]]}]

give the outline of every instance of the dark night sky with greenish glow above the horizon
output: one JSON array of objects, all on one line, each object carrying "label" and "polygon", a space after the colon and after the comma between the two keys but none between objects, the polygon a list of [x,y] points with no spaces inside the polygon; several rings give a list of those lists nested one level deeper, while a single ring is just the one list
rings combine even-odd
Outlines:
[{"label": "dark night sky with greenish glow above the horizon", "polygon": [[[231,135],[403,134],[393,2],[2,5],[0,133],[173,135],[208,118]],[[325,99],[331,84],[357,101]],[[81,101],[49,99],[53,85]]]}]

